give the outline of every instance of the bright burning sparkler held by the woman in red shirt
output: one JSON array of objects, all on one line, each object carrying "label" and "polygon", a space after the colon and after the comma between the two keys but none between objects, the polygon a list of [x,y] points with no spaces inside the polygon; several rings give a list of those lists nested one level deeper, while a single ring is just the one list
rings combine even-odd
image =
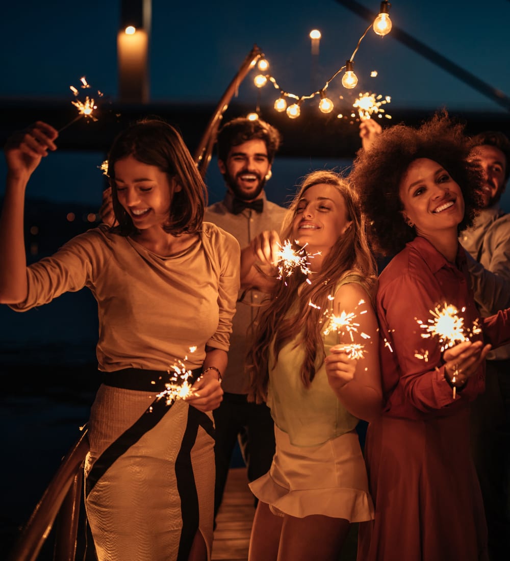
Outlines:
[{"label": "bright burning sparkler held by the woman in red shirt", "polygon": [[[461,312],[466,310],[462,307]],[[438,305],[434,310],[430,310],[432,318],[428,319],[426,323],[416,319],[420,328],[425,329],[425,333],[421,334],[423,338],[437,337],[441,343],[441,352],[445,349],[453,347],[457,343],[469,341],[471,335],[481,333],[481,329],[477,320],[473,323],[471,328],[465,327],[464,318],[459,315],[459,311],[452,304],[444,302],[443,308]],[[417,356],[417,354],[415,354]],[[428,355],[427,355],[428,356]],[[452,384],[456,382],[458,375],[457,365],[455,365]],[[453,399],[455,399],[456,387],[453,386]]]}]

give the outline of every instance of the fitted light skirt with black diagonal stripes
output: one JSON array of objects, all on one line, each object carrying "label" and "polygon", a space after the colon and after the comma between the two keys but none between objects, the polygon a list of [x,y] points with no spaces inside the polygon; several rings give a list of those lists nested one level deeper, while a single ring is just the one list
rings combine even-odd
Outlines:
[{"label": "fitted light skirt with black diagonal stripes", "polygon": [[[102,385],[91,410],[85,506],[99,561],[187,559],[213,540],[212,415]],[[158,412],[159,408],[159,412]]]}]

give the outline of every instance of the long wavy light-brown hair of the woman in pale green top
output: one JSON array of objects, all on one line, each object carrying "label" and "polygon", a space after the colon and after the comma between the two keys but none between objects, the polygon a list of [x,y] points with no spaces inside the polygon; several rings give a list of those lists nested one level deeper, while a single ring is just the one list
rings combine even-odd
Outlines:
[{"label": "long wavy light-brown hair of the woman in pale green top", "polygon": [[[370,252],[365,233],[365,220],[359,210],[355,193],[347,181],[332,171],[315,171],[308,174],[290,206],[282,239],[292,241],[292,221],[297,205],[305,191],[313,185],[327,183],[333,185],[342,195],[347,209],[347,218],[352,221],[347,231],[338,238],[325,257],[321,272],[316,274],[311,284],[306,275],[296,271],[286,279],[287,286],[278,282],[269,295],[268,305],[260,310],[252,328],[252,342],[249,346],[247,369],[250,374],[250,401],[260,403],[267,396],[269,346],[274,342],[274,354],[278,354],[284,344],[300,335],[297,344],[305,348],[305,360],[300,376],[305,387],[310,387],[315,376],[316,359],[324,357],[324,343],[321,334],[324,310],[328,309],[328,296],[332,295],[339,280],[348,274],[360,275],[367,292],[373,295],[376,282],[376,266]],[[297,249],[296,244],[294,248]],[[313,268],[313,260],[311,260]],[[319,306],[310,306],[313,302]]]}]

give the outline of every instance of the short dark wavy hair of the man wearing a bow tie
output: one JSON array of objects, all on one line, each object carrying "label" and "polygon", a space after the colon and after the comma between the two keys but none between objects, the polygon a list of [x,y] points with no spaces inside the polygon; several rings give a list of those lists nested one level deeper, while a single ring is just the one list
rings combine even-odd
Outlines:
[{"label": "short dark wavy hair of the man wearing a bow tie", "polygon": [[232,119],[232,121],[225,123],[218,132],[218,159],[226,162],[232,146],[238,146],[249,140],[259,139],[265,142],[269,163],[272,164],[274,155],[282,141],[279,131],[261,119],[256,121],[250,121],[246,117]]}]

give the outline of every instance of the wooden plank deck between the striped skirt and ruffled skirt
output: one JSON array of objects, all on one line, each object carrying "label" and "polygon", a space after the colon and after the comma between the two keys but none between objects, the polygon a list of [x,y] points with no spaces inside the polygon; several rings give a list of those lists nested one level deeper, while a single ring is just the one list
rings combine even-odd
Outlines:
[{"label": "wooden plank deck between the striped skirt and ruffled skirt", "polygon": [[213,561],[247,561],[254,514],[246,468],[230,468],[223,502],[216,517]]}]

